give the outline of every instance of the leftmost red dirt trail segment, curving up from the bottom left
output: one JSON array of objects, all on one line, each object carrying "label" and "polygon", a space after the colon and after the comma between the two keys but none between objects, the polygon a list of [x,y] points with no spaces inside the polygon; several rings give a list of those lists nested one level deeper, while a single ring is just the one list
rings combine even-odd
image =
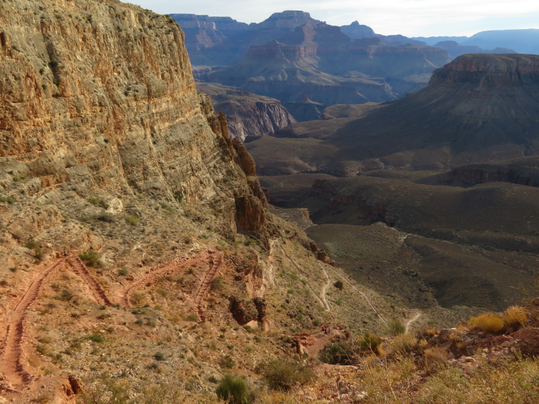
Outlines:
[{"label": "leftmost red dirt trail segment, curving up from the bottom left", "polygon": [[28,308],[38,298],[40,288],[50,273],[60,266],[65,258],[57,259],[52,265],[37,274],[28,291],[11,314],[6,330],[6,340],[1,351],[0,371],[11,382],[13,388],[20,388],[33,380],[26,366],[26,354],[23,348],[26,337],[26,317]]}]

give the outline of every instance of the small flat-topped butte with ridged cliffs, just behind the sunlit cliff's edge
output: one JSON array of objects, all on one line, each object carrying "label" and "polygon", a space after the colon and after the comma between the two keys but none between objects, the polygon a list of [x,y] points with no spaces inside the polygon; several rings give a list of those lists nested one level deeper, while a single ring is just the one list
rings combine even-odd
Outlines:
[{"label": "small flat-topped butte with ridged cliffs, just behind the sunlit cliff's edge", "polygon": [[243,141],[248,136],[271,136],[296,122],[277,99],[216,83],[197,83],[196,88],[211,96],[216,111],[226,114],[232,138]]}]

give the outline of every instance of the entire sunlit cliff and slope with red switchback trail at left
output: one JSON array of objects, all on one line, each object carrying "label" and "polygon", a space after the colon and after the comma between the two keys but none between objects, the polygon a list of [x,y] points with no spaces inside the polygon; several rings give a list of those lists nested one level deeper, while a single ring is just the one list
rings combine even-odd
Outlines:
[{"label": "entire sunlit cliff and slope with red switchback trail at left", "polygon": [[2,399],[211,401],[294,333],[413,318],[267,211],[171,18],[6,1],[0,26]]}]

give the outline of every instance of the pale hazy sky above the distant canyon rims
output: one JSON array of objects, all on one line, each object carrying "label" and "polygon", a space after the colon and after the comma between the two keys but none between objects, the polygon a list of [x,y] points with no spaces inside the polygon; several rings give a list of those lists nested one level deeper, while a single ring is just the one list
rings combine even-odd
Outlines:
[{"label": "pale hazy sky above the distant canyon rims", "polygon": [[260,23],[301,10],[333,26],[359,21],[382,35],[470,36],[483,30],[539,28],[538,0],[129,0],[156,13],[191,13]]}]

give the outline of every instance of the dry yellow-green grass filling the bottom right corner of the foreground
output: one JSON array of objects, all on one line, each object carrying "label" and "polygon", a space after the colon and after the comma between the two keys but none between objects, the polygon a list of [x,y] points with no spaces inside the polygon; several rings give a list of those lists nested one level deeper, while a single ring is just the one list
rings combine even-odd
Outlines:
[{"label": "dry yellow-green grass filling the bottom right corner of the foreground", "polygon": [[[539,359],[507,359],[496,366],[484,357],[477,361],[467,371],[448,366],[440,347],[426,349],[423,362],[411,355],[389,361],[372,355],[358,365],[358,377],[369,393],[365,403],[539,403]],[[429,374],[423,380],[422,370]]]}]

